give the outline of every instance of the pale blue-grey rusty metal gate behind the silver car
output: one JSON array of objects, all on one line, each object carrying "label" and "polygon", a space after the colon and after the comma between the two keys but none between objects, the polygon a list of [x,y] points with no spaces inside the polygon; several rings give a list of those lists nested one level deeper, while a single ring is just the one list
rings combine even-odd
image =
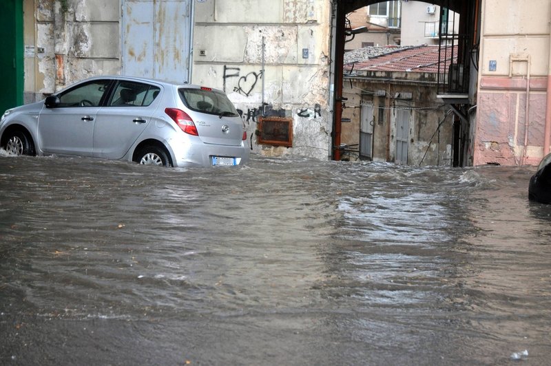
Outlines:
[{"label": "pale blue-grey rusty metal gate behind the silver car", "polygon": [[189,82],[192,0],[123,0],[123,74]]}]

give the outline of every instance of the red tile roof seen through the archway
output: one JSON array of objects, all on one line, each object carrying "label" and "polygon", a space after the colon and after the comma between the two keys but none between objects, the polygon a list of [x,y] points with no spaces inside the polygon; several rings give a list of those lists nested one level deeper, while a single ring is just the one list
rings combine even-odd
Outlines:
[{"label": "red tile roof seen through the archway", "polygon": [[[457,46],[453,47],[453,51],[454,61],[457,62]],[[437,45],[422,45],[397,50],[365,61],[349,63],[344,65],[344,70],[349,72],[354,67],[355,71],[437,73],[439,53],[441,53],[443,61],[440,65],[440,72],[445,72],[451,61],[452,47],[440,49]]]}]

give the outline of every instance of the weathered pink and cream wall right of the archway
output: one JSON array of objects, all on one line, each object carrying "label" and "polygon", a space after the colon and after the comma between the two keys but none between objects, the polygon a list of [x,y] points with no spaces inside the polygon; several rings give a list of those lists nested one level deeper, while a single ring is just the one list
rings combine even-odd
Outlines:
[{"label": "weathered pink and cream wall right of the archway", "polygon": [[548,0],[482,2],[475,165],[542,158],[550,19]]}]

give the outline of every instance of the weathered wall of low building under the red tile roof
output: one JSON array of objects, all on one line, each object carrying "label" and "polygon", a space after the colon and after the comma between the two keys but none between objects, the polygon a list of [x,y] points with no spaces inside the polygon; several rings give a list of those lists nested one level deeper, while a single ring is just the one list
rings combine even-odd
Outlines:
[{"label": "weathered wall of low building under the red tile roof", "polygon": [[[343,93],[349,100],[343,111],[341,142],[360,141],[360,107],[373,105],[373,161],[395,162],[398,111],[409,114],[408,165],[450,166],[452,158],[453,120],[446,107],[437,99],[434,74],[395,73],[395,80],[386,73],[371,73],[371,77],[346,78]],[[380,74],[381,78],[375,78]],[[408,77],[408,81],[400,78]]]}]

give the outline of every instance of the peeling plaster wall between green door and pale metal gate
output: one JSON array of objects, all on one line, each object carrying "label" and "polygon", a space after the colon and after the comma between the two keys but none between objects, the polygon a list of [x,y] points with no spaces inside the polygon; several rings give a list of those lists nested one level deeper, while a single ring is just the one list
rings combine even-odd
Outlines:
[{"label": "peeling plaster wall between green door and pale metal gate", "polygon": [[23,3],[25,24],[36,19],[34,29],[25,28],[26,102],[89,76],[120,73],[119,1],[67,0],[66,9],[59,0]]}]

